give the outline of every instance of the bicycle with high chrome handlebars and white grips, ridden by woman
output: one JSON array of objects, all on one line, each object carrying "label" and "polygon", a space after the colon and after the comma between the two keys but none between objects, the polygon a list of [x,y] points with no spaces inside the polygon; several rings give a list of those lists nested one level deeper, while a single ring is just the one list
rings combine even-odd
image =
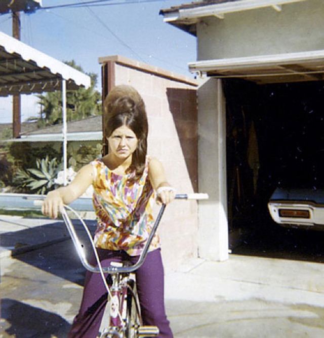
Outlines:
[{"label": "bicycle with high chrome handlebars and white grips, ridden by woman", "polygon": [[[192,193],[192,194],[176,194],[176,199],[208,199],[208,194],[204,193]],[[35,205],[42,205],[42,200],[35,200]],[[134,265],[130,265],[129,262],[111,262],[108,267],[102,267],[92,235],[84,222],[84,220],[75,212],[71,207],[64,206],[62,211],[62,217],[64,223],[71,236],[72,242],[76,249],[76,252],[82,262],[83,266],[90,272],[99,273],[102,277],[103,283],[106,287],[108,294],[108,306],[109,306],[109,325],[104,327],[100,335],[100,338],[144,338],[144,337],[156,337],[159,333],[157,326],[145,326],[142,322],[140,302],[136,291],[136,279],[134,272],[143,264],[148,248],[151,244],[156,229],[160,223],[163,213],[166,209],[166,205],[162,204],[160,210],[155,219],[155,223],[152,227],[152,231],[149,234],[145,247]],[[74,225],[68,216],[67,210],[71,211],[82,223],[95,259],[98,266],[94,266],[89,263],[85,251],[85,246],[79,240],[76,234]],[[111,276],[111,286],[108,284],[108,277],[105,278],[104,274]]]}]

